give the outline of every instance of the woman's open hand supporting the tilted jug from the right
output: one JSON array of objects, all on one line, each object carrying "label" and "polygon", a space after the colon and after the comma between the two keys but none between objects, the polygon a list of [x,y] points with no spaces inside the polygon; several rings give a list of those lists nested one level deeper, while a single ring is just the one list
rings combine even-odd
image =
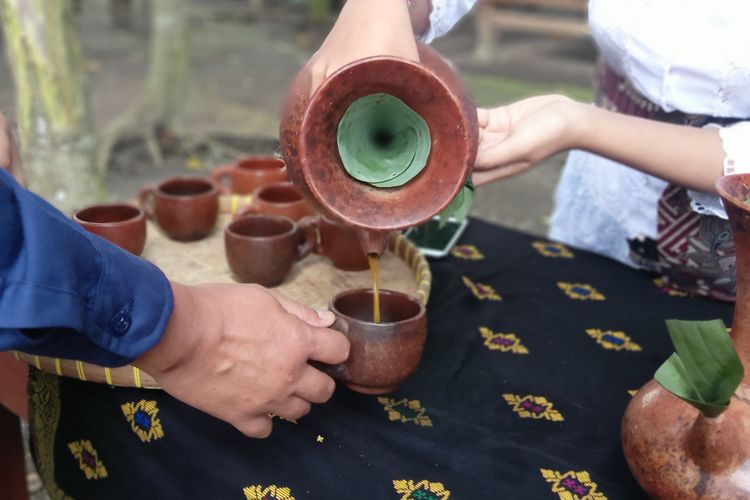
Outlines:
[{"label": "woman's open hand supporting the tilted jug from the right", "polygon": [[479,151],[474,184],[515,175],[573,147],[585,108],[557,95],[531,97],[494,109],[478,108]]}]

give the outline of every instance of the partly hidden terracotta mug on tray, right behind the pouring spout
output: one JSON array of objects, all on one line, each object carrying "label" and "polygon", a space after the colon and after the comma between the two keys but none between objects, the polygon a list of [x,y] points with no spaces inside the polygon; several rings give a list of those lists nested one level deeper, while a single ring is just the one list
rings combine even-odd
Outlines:
[{"label": "partly hidden terracotta mug on tray, right behind the pouring spout", "polygon": [[315,228],[318,240],[313,252],[331,259],[334,267],[343,271],[364,271],[370,268],[355,227],[324,215],[305,217],[300,222]]}]

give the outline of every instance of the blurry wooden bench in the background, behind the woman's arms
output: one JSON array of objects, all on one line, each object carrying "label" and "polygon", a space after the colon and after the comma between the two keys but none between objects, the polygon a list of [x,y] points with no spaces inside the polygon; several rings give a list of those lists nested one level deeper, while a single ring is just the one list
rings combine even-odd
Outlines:
[{"label": "blurry wooden bench in the background, behind the woman's arms", "polygon": [[587,7],[588,0],[480,0],[474,9],[474,58],[493,58],[498,30],[588,37]]}]

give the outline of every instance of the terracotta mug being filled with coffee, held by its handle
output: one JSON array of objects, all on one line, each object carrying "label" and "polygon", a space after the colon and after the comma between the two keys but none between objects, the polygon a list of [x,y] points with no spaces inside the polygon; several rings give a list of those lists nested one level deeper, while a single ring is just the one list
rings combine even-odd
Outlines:
[{"label": "terracotta mug being filled with coffee, held by its handle", "polygon": [[372,290],[355,289],[331,300],[332,328],[351,343],[349,359],[323,370],[350,389],[384,394],[398,389],[417,369],[427,336],[424,306],[402,292],[380,291],[381,323],[373,321]]}]

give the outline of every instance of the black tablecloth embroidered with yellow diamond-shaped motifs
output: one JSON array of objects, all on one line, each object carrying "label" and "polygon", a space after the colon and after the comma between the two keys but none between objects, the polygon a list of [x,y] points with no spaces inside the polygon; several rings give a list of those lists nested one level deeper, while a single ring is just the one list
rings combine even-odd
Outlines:
[{"label": "black tablecloth embroidered with yellow diamond-shaped motifs", "polygon": [[34,370],[32,448],[53,498],[643,497],[620,420],[672,352],[664,320],[729,324],[732,305],[478,220],[431,267],[414,376],[384,396],[340,387],[265,440],[161,391]]}]

